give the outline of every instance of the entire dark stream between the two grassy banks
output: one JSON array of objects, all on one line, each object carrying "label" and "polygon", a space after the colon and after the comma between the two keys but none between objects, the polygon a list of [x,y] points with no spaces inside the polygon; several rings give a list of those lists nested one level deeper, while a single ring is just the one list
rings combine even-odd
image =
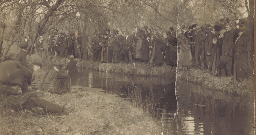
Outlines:
[{"label": "entire dark stream between the two grassy banks", "polygon": [[[235,97],[188,82],[79,70],[72,85],[101,88],[157,118],[163,134],[246,135],[253,127],[253,98]],[[177,113],[176,113],[177,114]]]}]

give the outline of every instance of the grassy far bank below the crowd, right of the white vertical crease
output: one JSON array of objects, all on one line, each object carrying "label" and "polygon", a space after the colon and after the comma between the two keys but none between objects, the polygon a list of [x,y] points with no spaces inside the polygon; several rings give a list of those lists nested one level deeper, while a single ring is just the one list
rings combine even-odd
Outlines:
[{"label": "grassy far bank below the crowd, right of the white vertical crease", "polygon": [[246,79],[238,82],[232,77],[214,77],[209,72],[202,72],[199,69],[178,69],[177,80],[186,80],[202,84],[210,89],[216,89],[233,95],[253,96],[253,79]]}]

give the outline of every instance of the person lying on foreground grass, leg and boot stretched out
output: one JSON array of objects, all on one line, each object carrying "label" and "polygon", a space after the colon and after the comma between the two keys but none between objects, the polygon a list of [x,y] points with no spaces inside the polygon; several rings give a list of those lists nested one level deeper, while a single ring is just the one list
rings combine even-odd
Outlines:
[{"label": "person lying on foreground grass, leg and boot stretched out", "polygon": [[33,109],[32,107],[41,107],[45,113],[51,113],[56,115],[65,114],[68,115],[72,110],[74,110],[75,105],[71,106],[60,106],[58,104],[53,104],[42,98],[38,98],[36,94],[28,92],[21,93],[14,90],[10,86],[6,86],[0,83],[0,101],[4,102],[7,107],[12,107],[17,110],[22,109]]}]

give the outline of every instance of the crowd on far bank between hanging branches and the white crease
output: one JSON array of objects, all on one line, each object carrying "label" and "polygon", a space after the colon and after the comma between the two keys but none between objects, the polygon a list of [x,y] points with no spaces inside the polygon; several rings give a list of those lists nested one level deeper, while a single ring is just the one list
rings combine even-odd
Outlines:
[{"label": "crowd on far bank between hanging branches and the white crease", "polygon": [[149,62],[151,66],[177,65],[177,40],[173,27],[135,27],[125,30],[106,30],[92,39],[93,59],[101,62]]}]

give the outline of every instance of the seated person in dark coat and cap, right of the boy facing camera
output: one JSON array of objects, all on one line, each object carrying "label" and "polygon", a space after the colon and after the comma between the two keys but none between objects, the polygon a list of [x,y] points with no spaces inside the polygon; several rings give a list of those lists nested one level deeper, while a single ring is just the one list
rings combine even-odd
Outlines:
[{"label": "seated person in dark coat and cap, right of the boy facing camera", "polygon": [[63,94],[69,92],[69,76],[62,70],[63,64],[60,62],[53,63],[53,69],[47,74],[43,91],[55,94]]}]

